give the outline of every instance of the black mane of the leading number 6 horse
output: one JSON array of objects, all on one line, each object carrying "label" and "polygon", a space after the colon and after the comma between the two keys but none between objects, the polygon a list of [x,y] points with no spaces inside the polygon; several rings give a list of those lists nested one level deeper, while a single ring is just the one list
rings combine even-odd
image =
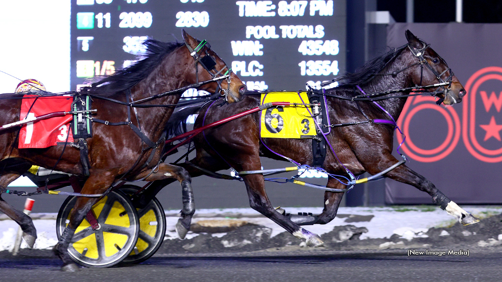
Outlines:
[{"label": "black mane of the leading number 6 horse", "polygon": [[401,54],[401,52],[407,46],[408,44],[403,45],[399,48],[392,48],[387,53],[369,60],[362,67],[357,68],[354,73],[346,73],[343,76],[337,78],[335,80],[339,81],[339,85],[337,87],[353,87],[355,85],[371,81],[376,76],[376,74],[381,72],[390,62],[396,59],[396,57],[398,57],[399,54]]}]

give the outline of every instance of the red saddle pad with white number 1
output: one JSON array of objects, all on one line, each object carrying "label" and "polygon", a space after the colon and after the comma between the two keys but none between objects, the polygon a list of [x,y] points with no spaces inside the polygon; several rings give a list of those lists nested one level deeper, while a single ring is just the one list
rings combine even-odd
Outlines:
[{"label": "red saddle pad with white number 1", "polygon": [[[56,111],[70,111],[72,102],[73,97],[71,96],[25,95],[21,103],[20,119],[25,119],[27,115],[40,116]],[[72,115],[67,114],[23,125],[19,133],[19,148],[47,148],[56,146],[58,142],[66,142],[66,138],[68,138],[68,142],[73,142],[70,128],[71,118]],[[68,134],[70,135],[68,136]]]}]

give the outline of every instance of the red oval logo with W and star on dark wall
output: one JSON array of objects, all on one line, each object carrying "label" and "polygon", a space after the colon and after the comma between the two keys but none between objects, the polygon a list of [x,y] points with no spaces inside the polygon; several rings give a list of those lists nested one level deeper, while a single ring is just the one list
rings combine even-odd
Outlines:
[{"label": "red oval logo with W and star on dark wall", "polygon": [[465,84],[465,90],[467,95],[462,102],[462,138],[465,147],[480,161],[501,162],[502,68],[478,70]]}]

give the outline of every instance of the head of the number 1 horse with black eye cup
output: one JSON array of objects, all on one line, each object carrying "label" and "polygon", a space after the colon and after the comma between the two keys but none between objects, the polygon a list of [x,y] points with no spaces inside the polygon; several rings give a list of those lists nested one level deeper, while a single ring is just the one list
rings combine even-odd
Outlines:
[{"label": "head of the number 1 horse with black eye cup", "polygon": [[182,35],[187,46],[187,52],[195,59],[197,68],[195,75],[198,81],[227,76],[226,79],[204,85],[200,90],[211,93],[219,92],[230,103],[242,100],[247,87],[225,62],[211,50],[209,43],[205,40],[199,41],[193,38],[185,30],[182,30]]}]

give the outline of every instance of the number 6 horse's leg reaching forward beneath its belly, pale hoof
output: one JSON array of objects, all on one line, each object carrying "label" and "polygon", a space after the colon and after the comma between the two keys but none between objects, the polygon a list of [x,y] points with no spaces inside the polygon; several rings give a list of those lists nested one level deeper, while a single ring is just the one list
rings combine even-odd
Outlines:
[{"label": "number 6 horse's leg reaching forward beneath its belly, pale hoof", "polygon": [[300,225],[291,221],[287,216],[274,209],[270,203],[267,193],[265,192],[265,181],[263,179],[263,175],[251,174],[244,175],[242,178],[244,179],[244,183],[246,185],[249,205],[253,209],[270,218],[298,239],[305,239],[305,243],[309,247],[324,244],[324,241],[321,237],[319,237],[319,235],[303,229]]}]

